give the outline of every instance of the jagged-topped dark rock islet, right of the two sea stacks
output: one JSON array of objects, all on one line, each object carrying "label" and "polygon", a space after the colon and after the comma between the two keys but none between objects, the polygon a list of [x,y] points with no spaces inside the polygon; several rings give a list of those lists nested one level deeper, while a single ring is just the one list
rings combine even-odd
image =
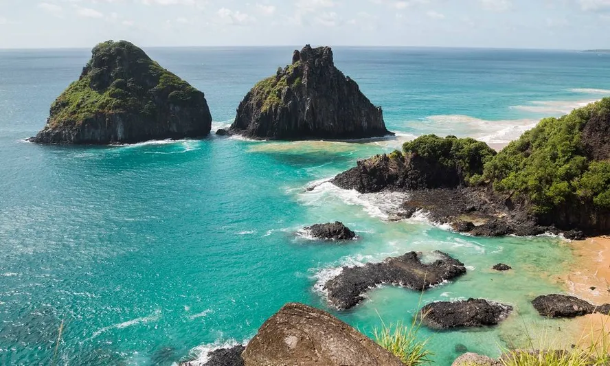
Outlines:
[{"label": "jagged-topped dark rock islet, right of the two sea stacks", "polygon": [[381,107],[343,75],[330,47],[306,45],[293,62],[256,84],[239,105],[231,133],[253,139],[360,139],[391,135]]}]

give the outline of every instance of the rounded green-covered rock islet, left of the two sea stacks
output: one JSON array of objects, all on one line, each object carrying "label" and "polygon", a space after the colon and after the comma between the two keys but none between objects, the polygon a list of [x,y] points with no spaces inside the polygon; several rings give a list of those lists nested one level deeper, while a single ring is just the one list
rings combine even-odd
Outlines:
[{"label": "rounded green-covered rock islet, left of the two sea stacks", "polygon": [[30,141],[131,144],[203,137],[212,115],[201,91],[127,41],[95,46],[80,78],[55,100]]}]

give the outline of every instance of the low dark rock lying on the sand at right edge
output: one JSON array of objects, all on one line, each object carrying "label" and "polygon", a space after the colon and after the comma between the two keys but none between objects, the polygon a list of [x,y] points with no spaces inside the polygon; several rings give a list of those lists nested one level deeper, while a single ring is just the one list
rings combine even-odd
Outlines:
[{"label": "low dark rock lying on the sand at right edge", "polygon": [[595,306],[578,297],[567,295],[539,296],[532,301],[532,305],[543,317],[550,318],[574,318],[594,312],[610,314],[610,304]]}]

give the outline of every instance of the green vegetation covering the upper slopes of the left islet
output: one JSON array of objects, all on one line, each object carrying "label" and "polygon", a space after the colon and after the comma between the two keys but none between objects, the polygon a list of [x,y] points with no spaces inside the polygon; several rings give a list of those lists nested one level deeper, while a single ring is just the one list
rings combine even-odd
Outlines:
[{"label": "green vegetation covering the upper slopes of the left islet", "polygon": [[108,41],[93,48],[80,79],[51,106],[51,124],[81,123],[98,113],[157,111],[159,100],[183,105],[202,95],[126,41]]}]

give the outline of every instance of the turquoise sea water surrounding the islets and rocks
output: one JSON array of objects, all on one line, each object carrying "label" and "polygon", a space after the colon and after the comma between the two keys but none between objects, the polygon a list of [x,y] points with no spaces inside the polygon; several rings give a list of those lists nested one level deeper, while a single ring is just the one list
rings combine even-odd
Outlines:
[{"label": "turquoise sea water surrounding the islets and rocks", "polygon": [[[216,127],[230,123],[256,80],[291,58],[281,47],[146,51],[205,91]],[[422,133],[514,138],[539,117],[610,93],[609,55],[335,49],[337,66],[383,106],[398,133],[388,141],[23,142],[88,58],[84,49],[0,51],[2,365],[171,365],[251,338],[288,301],[329,310],[363,332],[380,317],[410,321],[420,301],[486,297],[517,308],[494,329],[425,330],[438,365],[447,365],[457,343],[490,355],[523,344],[524,324],[541,323],[528,301],[561,290],[570,256],[560,240],[469,238],[425,220],[387,220],[400,195],[305,187]],[[295,235],[330,220],[361,240],[321,244]],[[422,299],[379,288],[337,312],[320,291],[342,265],[436,249],[469,271]],[[488,270],[497,262],[515,271]]]}]

